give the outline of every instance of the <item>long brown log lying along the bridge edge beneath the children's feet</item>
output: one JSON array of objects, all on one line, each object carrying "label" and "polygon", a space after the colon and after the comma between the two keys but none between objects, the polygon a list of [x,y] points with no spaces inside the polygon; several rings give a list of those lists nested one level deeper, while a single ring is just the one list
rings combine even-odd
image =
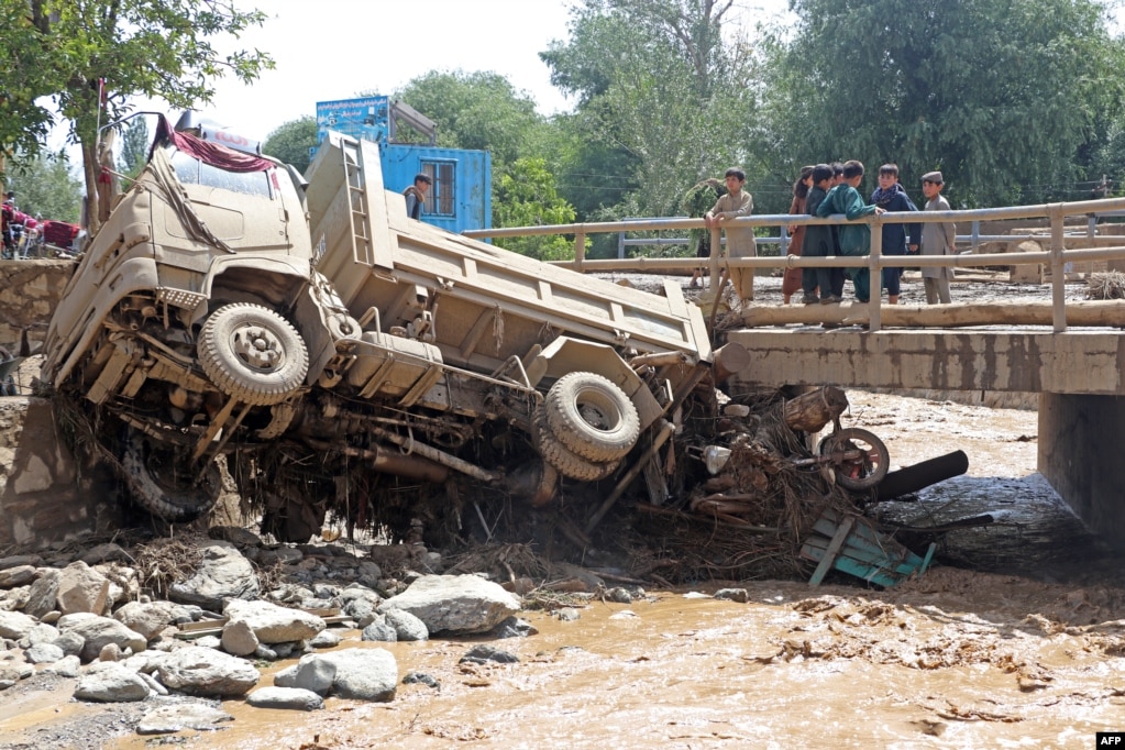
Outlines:
[{"label": "long brown log lying along the bridge edge beneath the children's feet", "polygon": [[[740,311],[747,327],[837,323],[860,325],[870,319],[866,304],[750,306]],[[1052,325],[1048,301],[987,302],[980,305],[883,305],[884,328],[956,328],[974,325]],[[1066,302],[1066,324],[1125,327],[1125,300]]]}]

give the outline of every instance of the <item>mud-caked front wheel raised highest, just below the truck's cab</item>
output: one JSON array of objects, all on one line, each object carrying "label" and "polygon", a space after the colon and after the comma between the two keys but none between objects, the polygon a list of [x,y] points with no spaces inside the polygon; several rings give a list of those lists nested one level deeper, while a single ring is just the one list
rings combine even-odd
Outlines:
[{"label": "mud-caked front wheel raised highest, just below the truck's cab", "polygon": [[261,305],[235,302],[212,313],[196,349],[212,382],[252,406],[284,401],[308,373],[308,350],[300,334]]}]

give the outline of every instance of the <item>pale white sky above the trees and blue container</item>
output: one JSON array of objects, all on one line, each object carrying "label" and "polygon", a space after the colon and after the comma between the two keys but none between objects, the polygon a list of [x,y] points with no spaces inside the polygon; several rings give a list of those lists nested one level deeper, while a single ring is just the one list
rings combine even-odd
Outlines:
[{"label": "pale white sky above the trees and blue container", "polygon": [[[745,22],[786,3],[736,0],[731,18]],[[215,98],[201,110],[250,138],[315,115],[317,101],[390,94],[433,70],[500,73],[542,115],[575,103],[551,85],[539,58],[551,40],[568,38],[574,0],[244,0],[240,7],[255,4],[269,20],[230,44],[268,52],[276,69],[249,85],[216,81]],[[169,114],[173,121],[179,115]]]}]

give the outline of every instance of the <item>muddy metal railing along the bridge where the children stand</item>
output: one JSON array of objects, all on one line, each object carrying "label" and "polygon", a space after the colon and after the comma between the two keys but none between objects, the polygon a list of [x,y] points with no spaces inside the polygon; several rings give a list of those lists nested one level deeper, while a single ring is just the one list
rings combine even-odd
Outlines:
[{"label": "muddy metal railing along the bridge where the children stand", "polygon": [[[699,257],[627,257],[615,260],[590,260],[586,257],[586,237],[600,233],[621,232],[659,232],[667,229],[699,229],[704,226],[703,219],[665,218],[665,219],[630,219],[628,222],[597,222],[588,224],[559,224],[551,226],[504,227],[492,229],[471,229],[465,232],[468,237],[525,237],[538,235],[574,235],[574,260],[555,261],[579,272],[592,271],[690,271],[702,264],[709,266],[712,288],[719,282],[723,268],[752,269],[786,269],[786,268],[867,268],[871,271],[873,291],[878,289],[884,268],[982,268],[997,265],[1035,264],[1051,269],[1052,326],[1055,332],[1066,329],[1065,268],[1068,263],[1083,261],[1114,261],[1125,259],[1125,236],[1082,236],[1084,245],[1106,244],[1104,247],[1083,247],[1066,250],[1066,241],[1078,237],[1068,236],[1065,220],[1069,216],[1083,218],[1097,214],[1125,210],[1125,198],[1108,198],[1102,200],[1084,200],[1065,204],[1041,204],[1036,206],[1011,206],[1004,208],[978,208],[971,210],[951,211],[893,211],[881,216],[867,216],[855,223],[871,225],[871,254],[864,256],[834,255],[828,257],[803,257],[800,255],[759,256],[759,257],[726,257],[720,253],[720,231],[712,229],[711,257],[701,263]],[[885,224],[928,224],[934,222],[988,222],[1002,219],[1042,219],[1050,220],[1050,249],[1042,252],[1016,253],[965,253],[957,255],[884,255],[882,252]],[[808,215],[760,215],[746,216],[730,224],[740,227],[786,227],[824,224],[849,224],[843,215],[828,218],[817,218]],[[1019,237],[1008,237],[1012,241]],[[1122,243],[1122,244],[1118,244]],[[880,295],[872,293],[867,302],[868,325],[871,331],[881,326]]]}]

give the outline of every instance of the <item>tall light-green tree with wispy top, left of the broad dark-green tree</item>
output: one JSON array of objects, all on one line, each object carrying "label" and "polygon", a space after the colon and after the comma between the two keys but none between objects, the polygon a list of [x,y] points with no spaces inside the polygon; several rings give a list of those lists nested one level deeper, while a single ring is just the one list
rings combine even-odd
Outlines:
[{"label": "tall light-green tree with wispy top, left of the broad dark-green tree", "polygon": [[540,57],[576,94],[578,126],[633,163],[644,214],[674,214],[684,190],[732,164],[753,172],[756,57],[724,40],[731,0],[585,0],[570,38]]}]

